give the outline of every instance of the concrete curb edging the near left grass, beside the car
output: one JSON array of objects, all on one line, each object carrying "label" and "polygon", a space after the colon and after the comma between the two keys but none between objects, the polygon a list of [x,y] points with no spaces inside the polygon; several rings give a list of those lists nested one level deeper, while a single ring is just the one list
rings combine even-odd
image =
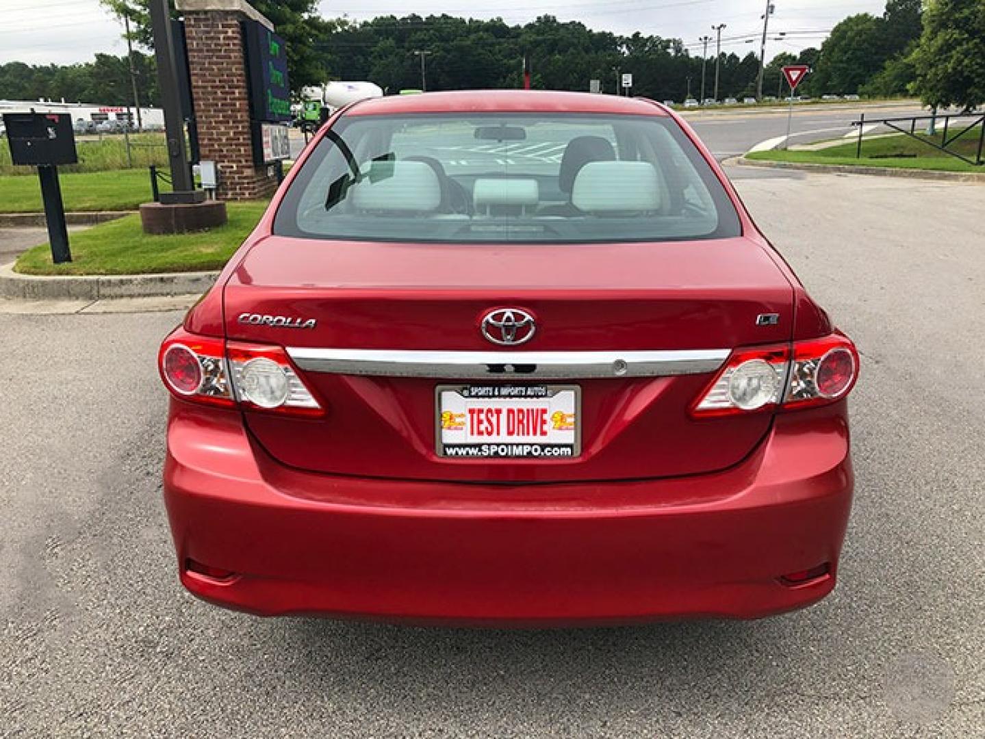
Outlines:
[{"label": "concrete curb edging the near left grass, beside the car", "polygon": [[20,275],[14,264],[0,267],[0,297],[22,300],[100,300],[124,297],[168,297],[202,294],[218,272],[179,272],[161,275],[93,275],[41,277]]}]

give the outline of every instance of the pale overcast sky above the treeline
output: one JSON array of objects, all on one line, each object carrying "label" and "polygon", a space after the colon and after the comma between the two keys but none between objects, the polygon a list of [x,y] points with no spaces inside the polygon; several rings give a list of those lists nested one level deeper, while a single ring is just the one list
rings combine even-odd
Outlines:
[{"label": "pale overcast sky above the treeline", "polygon": [[[767,57],[780,51],[797,52],[820,46],[826,31],[854,13],[883,12],[885,0],[773,0]],[[758,50],[747,42],[762,31],[765,0],[323,0],[322,15],[346,15],[364,20],[378,15],[448,13],[473,18],[500,17],[521,24],[540,15],[562,21],[581,21],[591,29],[632,33],[640,31],[683,38],[692,54],[700,55],[698,38],[714,35],[712,25],[726,24],[722,50],[744,55]],[[115,18],[99,0],[0,0],[0,63],[67,64],[87,61],[97,51],[121,54],[126,46]],[[779,32],[786,35],[779,37]],[[778,40],[774,40],[778,39]]]}]

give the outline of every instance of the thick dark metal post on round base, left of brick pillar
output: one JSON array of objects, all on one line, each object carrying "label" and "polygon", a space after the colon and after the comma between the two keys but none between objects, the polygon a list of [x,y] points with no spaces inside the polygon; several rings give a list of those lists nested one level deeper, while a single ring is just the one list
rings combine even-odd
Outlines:
[{"label": "thick dark metal post on round base, left of brick pillar", "polygon": [[[174,58],[174,39],[168,15],[167,0],[150,0],[151,23],[154,26],[154,51],[158,60],[158,83],[161,87],[161,106],[164,108],[164,130],[167,138],[167,161],[171,170],[171,189],[174,202],[197,201],[192,195],[194,183],[188,173],[185,152],[184,119],[181,117],[181,95],[178,92],[177,63]],[[185,194],[182,198],[181,194]]]}]

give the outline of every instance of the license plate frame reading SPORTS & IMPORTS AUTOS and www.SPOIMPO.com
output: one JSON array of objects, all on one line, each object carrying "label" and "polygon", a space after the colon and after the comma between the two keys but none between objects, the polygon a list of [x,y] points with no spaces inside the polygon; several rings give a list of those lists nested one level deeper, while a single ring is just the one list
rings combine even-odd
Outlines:
[{"label": "license plate frame reading SPORTS & IMPORTS AUTOS and www.SPOIMPO.com", "polygon": [[[482,390],[482,394],[476,394],[477,390]],[[519,391],[523,392],[522,396],[514,395]],[[573,428],[573,438],[570,442],[525,442],[525,441],[489,441],[489,442],[461,442],[461,443],[449,443],[443,439],[442,434],[442,423],[441,423],[441,413],[444,409],[442,405],[442,394],[444,393],[455,393],[459,396],[463,396],[463,392],[468,392],[470,395],[474,395],[476,400],[493,400],[498,401],[500,404],[505,406],[505,403],[512,403],[515,401],[520,401],[523,403],[524,400],[531,401],[530,405],[533,405],[533,401],[544,400],[545,398],[554,400],[564,393],[571,394],[571,403],[564,406],[564,409],[571,407],[573,410],[574,418],[570,421]],[[492,392],[494,395],[485,395],[487,392]],[[465,400],[472,400],[466,398]],[[558,403],[561,400],[558,398]],[[557,383],[538,383],[535,385],[520,384],[520,383],[455,383],[448,385],[437,385],[434,388],[434,452],[442,460],[472,460],[481,462],[491,462],[491,461],[501,461],[501,462],[517,462],[517,461],[570,461],[575,460],[581,456],[581,436],[582,436],[582,415],[581,415],[581,386],[571,385],[571,384],[557,384]],[[549,410],[550,415],[550,410]],[[566,421],[566,419],[565,419]],[[479,453],[469,453],[469,454],[448,454],[447,449],[452,447],[479,447],[479,446],[493,446],[493,447],[523,447],[529,446],[529,454],[513,454],[512,452],[518,451],[516,449],[506,450],[508,454],[501,454],[503,450],[496,449],[490,454],[479,454]],[[534,448],[538,448],[540,453],[535,453]],[[555,450],[569,450],[567,453],[560,453]]]}]

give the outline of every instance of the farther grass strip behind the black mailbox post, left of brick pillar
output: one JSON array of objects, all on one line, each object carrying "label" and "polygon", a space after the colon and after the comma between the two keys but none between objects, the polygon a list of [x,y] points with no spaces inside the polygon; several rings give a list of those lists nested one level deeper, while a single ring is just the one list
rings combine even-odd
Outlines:
[{"label": "farther grass strip behind the black mailbox post, left of brick pillar", "polygon": [[[108,172],[58,172],[65,211],[133,211],[149,203],[151,175],[147,169]],[[162,190],[170,188],[161,183]],[[37,174],[0,176],[0,213],[40,213],[41,189]]]}]

